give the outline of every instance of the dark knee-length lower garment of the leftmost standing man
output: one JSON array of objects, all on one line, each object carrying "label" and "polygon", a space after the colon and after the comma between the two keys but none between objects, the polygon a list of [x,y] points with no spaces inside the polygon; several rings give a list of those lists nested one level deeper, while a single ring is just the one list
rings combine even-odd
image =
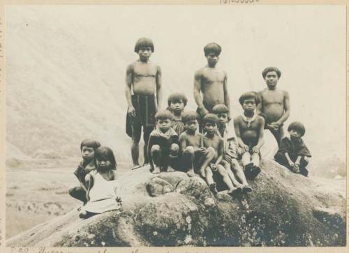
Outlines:
[{"label": "dark knee-length lower garment of the leftmost standing man", "polygon": [[142,125],[151,128],[155,125],[156,98],[155,95],[132,95],[132,105],[135,107],[135,117],[126,114],[126,133],[132,137],[132,125]]}]

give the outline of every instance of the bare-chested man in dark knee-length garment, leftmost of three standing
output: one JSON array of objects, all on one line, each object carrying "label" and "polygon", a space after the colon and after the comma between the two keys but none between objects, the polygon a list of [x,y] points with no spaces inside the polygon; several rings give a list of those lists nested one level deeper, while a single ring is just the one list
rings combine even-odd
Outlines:
[{"label": "bare-chested man in dark knee-length garment, leftmost of three standing", "polygon": [[149,38],[140,38],[135,44],[140,59],[126,70],[126,100],[128,103],[126,132],[132,137],[133,169],[140,167],[139,142],[143,127],[144,164],[148,163],[149,135],[155,126],[155,114],[161,105],[161,68],[149,61],[154,44]]}]

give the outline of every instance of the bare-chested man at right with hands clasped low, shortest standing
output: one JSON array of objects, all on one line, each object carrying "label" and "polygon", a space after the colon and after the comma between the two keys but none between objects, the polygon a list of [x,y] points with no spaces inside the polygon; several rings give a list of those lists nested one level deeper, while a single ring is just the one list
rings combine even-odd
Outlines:
[{"label": "bare-chested man at right with hands clasped low, shortest standing", "polygon": [[290,96],[287,91],[276,89],[281,77],[278,68],[268,67],[262,72],[268,88],[260,91],[260,104],[257,114],[265,118],[265,128],[269,129],[280,145],[283,138],[283,123],[290,116]]}]

